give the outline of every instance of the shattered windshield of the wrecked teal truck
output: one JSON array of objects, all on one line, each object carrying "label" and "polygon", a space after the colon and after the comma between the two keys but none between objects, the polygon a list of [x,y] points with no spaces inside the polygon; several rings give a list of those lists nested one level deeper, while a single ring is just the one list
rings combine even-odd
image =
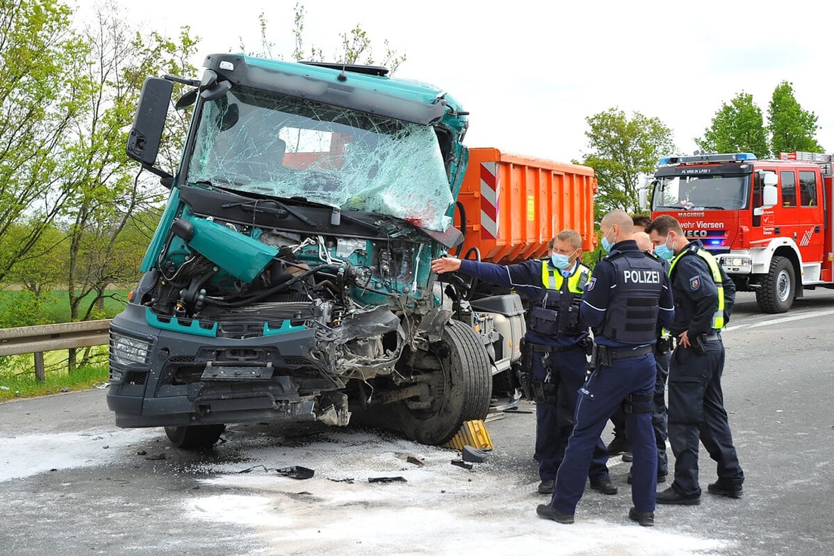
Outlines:
[{"label": "shattered windshield of the wrecked teal truck", "polygon": [[187,179],[440,231],[453,202],[430,126],[246,88],[203,105]]}]

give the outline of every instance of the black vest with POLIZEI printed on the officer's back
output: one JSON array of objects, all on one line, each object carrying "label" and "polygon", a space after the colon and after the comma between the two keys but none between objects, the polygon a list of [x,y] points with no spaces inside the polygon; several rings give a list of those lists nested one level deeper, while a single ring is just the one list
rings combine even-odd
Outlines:
[{"label": "black vest with POLIZEI printed on the officer's back", "polygon": [[600,334],[622,343],[651,343],[657,338],[657,313],[663,291],[663,268],[641,253],[606,258],[614,265],[615,295],[605,309]]}]

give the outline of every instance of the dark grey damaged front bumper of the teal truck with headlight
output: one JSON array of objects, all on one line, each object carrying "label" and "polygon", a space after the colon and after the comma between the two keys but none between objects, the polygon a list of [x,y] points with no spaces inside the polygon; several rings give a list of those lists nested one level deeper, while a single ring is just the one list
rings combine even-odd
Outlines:
[{"label": "dark grey damaged front bumper of the teal truck with headlight", "polygon": [[123,428],[315,420],[344,388],[309,328],[207,337],[150,326],[130,304],[110,332],[107,403]]}]

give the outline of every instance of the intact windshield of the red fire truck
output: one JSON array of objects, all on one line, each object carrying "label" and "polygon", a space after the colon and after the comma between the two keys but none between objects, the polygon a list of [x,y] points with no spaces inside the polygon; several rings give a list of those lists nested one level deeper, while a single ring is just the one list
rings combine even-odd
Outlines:
[{"label": "intact windshield of the red fire truck", "polygon": [[739,210],[750,205],[750,176],[667,176],[657,178],[652,210]]}]

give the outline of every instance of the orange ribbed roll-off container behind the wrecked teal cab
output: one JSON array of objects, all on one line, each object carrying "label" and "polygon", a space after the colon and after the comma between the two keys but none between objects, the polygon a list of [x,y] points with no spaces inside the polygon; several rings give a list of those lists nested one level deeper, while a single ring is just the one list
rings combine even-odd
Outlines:
[{"label": "orange ribbed roll-off container behind the wrecked teal cab", "polygon": [[[476,247],[490,263],[542,258],[550,238],[565,228],[579,232],[583,250],[591,251],[596,189],[593,168],[470,148],[458,194],[466,220],[460,256]],[[460,219],[455,210],[459,228]]]}]

